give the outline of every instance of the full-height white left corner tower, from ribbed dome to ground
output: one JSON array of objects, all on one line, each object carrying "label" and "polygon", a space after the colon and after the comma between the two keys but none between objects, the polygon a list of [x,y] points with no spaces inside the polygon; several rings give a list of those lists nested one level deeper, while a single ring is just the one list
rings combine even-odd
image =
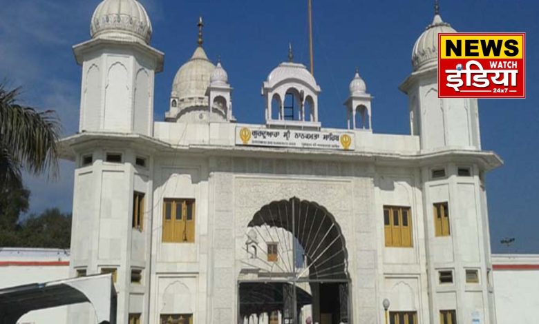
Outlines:
[{"label": "full-height white left corner tower, from ribbed dome to ground", "polygon": [[[82,66],[70,275],[112,273],[115,323],[149,323],[154,75],[164,54],[149,45],[152,27],[137,0],[104,0],[91,39],[75,45]],[[130,140],[126,141],[126,136]],[[135,319],[138,318],[138,319]],[[74,305],[68,323],[95,323]]]}]

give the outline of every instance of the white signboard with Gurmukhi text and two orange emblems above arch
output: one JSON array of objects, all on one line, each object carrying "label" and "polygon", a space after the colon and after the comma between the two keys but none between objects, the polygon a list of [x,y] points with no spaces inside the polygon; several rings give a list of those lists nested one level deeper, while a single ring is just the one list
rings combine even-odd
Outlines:
[{"label": "white signboard with Gurmukhi text and two orange emblems above arch", "polygon": [[270,148],[311,148],[322,150],[354,150],[351,132],[307,130],[270,130],[267,128],[236,127],[236,145]]}]

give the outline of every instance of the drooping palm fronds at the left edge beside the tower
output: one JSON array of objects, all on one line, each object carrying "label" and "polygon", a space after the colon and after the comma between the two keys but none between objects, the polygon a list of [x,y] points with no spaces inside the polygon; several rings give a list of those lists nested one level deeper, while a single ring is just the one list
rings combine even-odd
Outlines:
[{"label": "drooping palm fronds at the left edge beside the tower", "polygon": [[21,172],[55,176],[60,123],[53,110],[17,103],[19,89],[0,83],[0,189],[22,188]]}]

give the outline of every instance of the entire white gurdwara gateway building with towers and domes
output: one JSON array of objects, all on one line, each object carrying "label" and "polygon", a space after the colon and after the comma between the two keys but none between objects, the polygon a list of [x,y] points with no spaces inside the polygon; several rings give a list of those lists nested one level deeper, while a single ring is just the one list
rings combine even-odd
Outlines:
[{"label": "entire white gurdwara gateway building with towers and domes", "polygon": [[[202,19],[153,121],[149,16],[102,1],[74,47],[80,125],[62,141],[70,276],[112,273],[117,323],[496,323],[484,174],[502,162],[481,150],[477,100],[437,97],[437,34],[455,30],[435,11],[400,86],[411,133],[393,135],[372,132],[359,72],[348,129],[323,128],[292,49],[263,82],[265,123],[236,121]],[[68,323],[95,323],[91,305]]]}]

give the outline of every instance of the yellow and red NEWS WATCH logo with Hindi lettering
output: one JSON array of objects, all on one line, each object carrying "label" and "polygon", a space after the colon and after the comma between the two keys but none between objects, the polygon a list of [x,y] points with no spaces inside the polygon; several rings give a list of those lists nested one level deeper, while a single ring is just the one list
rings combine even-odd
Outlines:
[{"label": "yellow and red NEWS WATCH logo with Hindi lettering", "polygon": [[438,34],[438,97],[525,98],[525,33]]}]

